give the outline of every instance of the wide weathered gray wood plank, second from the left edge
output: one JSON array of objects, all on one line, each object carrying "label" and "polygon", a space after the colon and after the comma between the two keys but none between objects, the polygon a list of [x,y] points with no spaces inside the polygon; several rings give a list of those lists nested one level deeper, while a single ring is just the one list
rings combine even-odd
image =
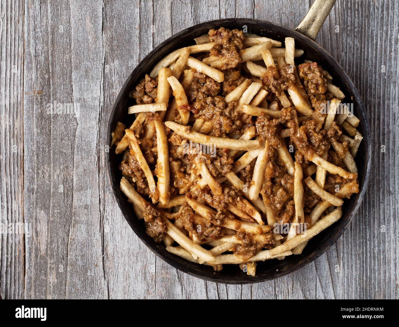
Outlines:
[{"label": "wide weathered gray wood plank, second from the left edge", "polygon": [[[26,8],[24,212],[34,242],[26,243],[25,297],[106,297],[96,167],[102,4]],[[79,110],[51,114],[50,103]]]}]

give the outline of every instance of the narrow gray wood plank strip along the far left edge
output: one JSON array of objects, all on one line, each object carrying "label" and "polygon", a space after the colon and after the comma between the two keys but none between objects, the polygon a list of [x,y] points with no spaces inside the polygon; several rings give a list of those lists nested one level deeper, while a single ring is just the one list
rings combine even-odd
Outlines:
[{"label": "narrow gray wood plank strip along the far left edge", "polygon": [[19,228],[24,224],[23,31],[24,4],[0,1],[0,294],[9,298],[24,295],[30,237]]}]

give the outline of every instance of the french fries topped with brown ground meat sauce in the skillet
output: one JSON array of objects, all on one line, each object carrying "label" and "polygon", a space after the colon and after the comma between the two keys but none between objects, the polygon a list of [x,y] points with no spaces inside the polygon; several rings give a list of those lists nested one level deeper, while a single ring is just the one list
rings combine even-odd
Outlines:
[{"label": "french fries topped with brown ground meat sauce in the skillet", "polygon": [[169,252],[255,275],[358,193],[359,119],[320,63],[295,64],[293,38],[221,27],[194,41],[130,92],[134,121],[112,135],[120,188]]}]

